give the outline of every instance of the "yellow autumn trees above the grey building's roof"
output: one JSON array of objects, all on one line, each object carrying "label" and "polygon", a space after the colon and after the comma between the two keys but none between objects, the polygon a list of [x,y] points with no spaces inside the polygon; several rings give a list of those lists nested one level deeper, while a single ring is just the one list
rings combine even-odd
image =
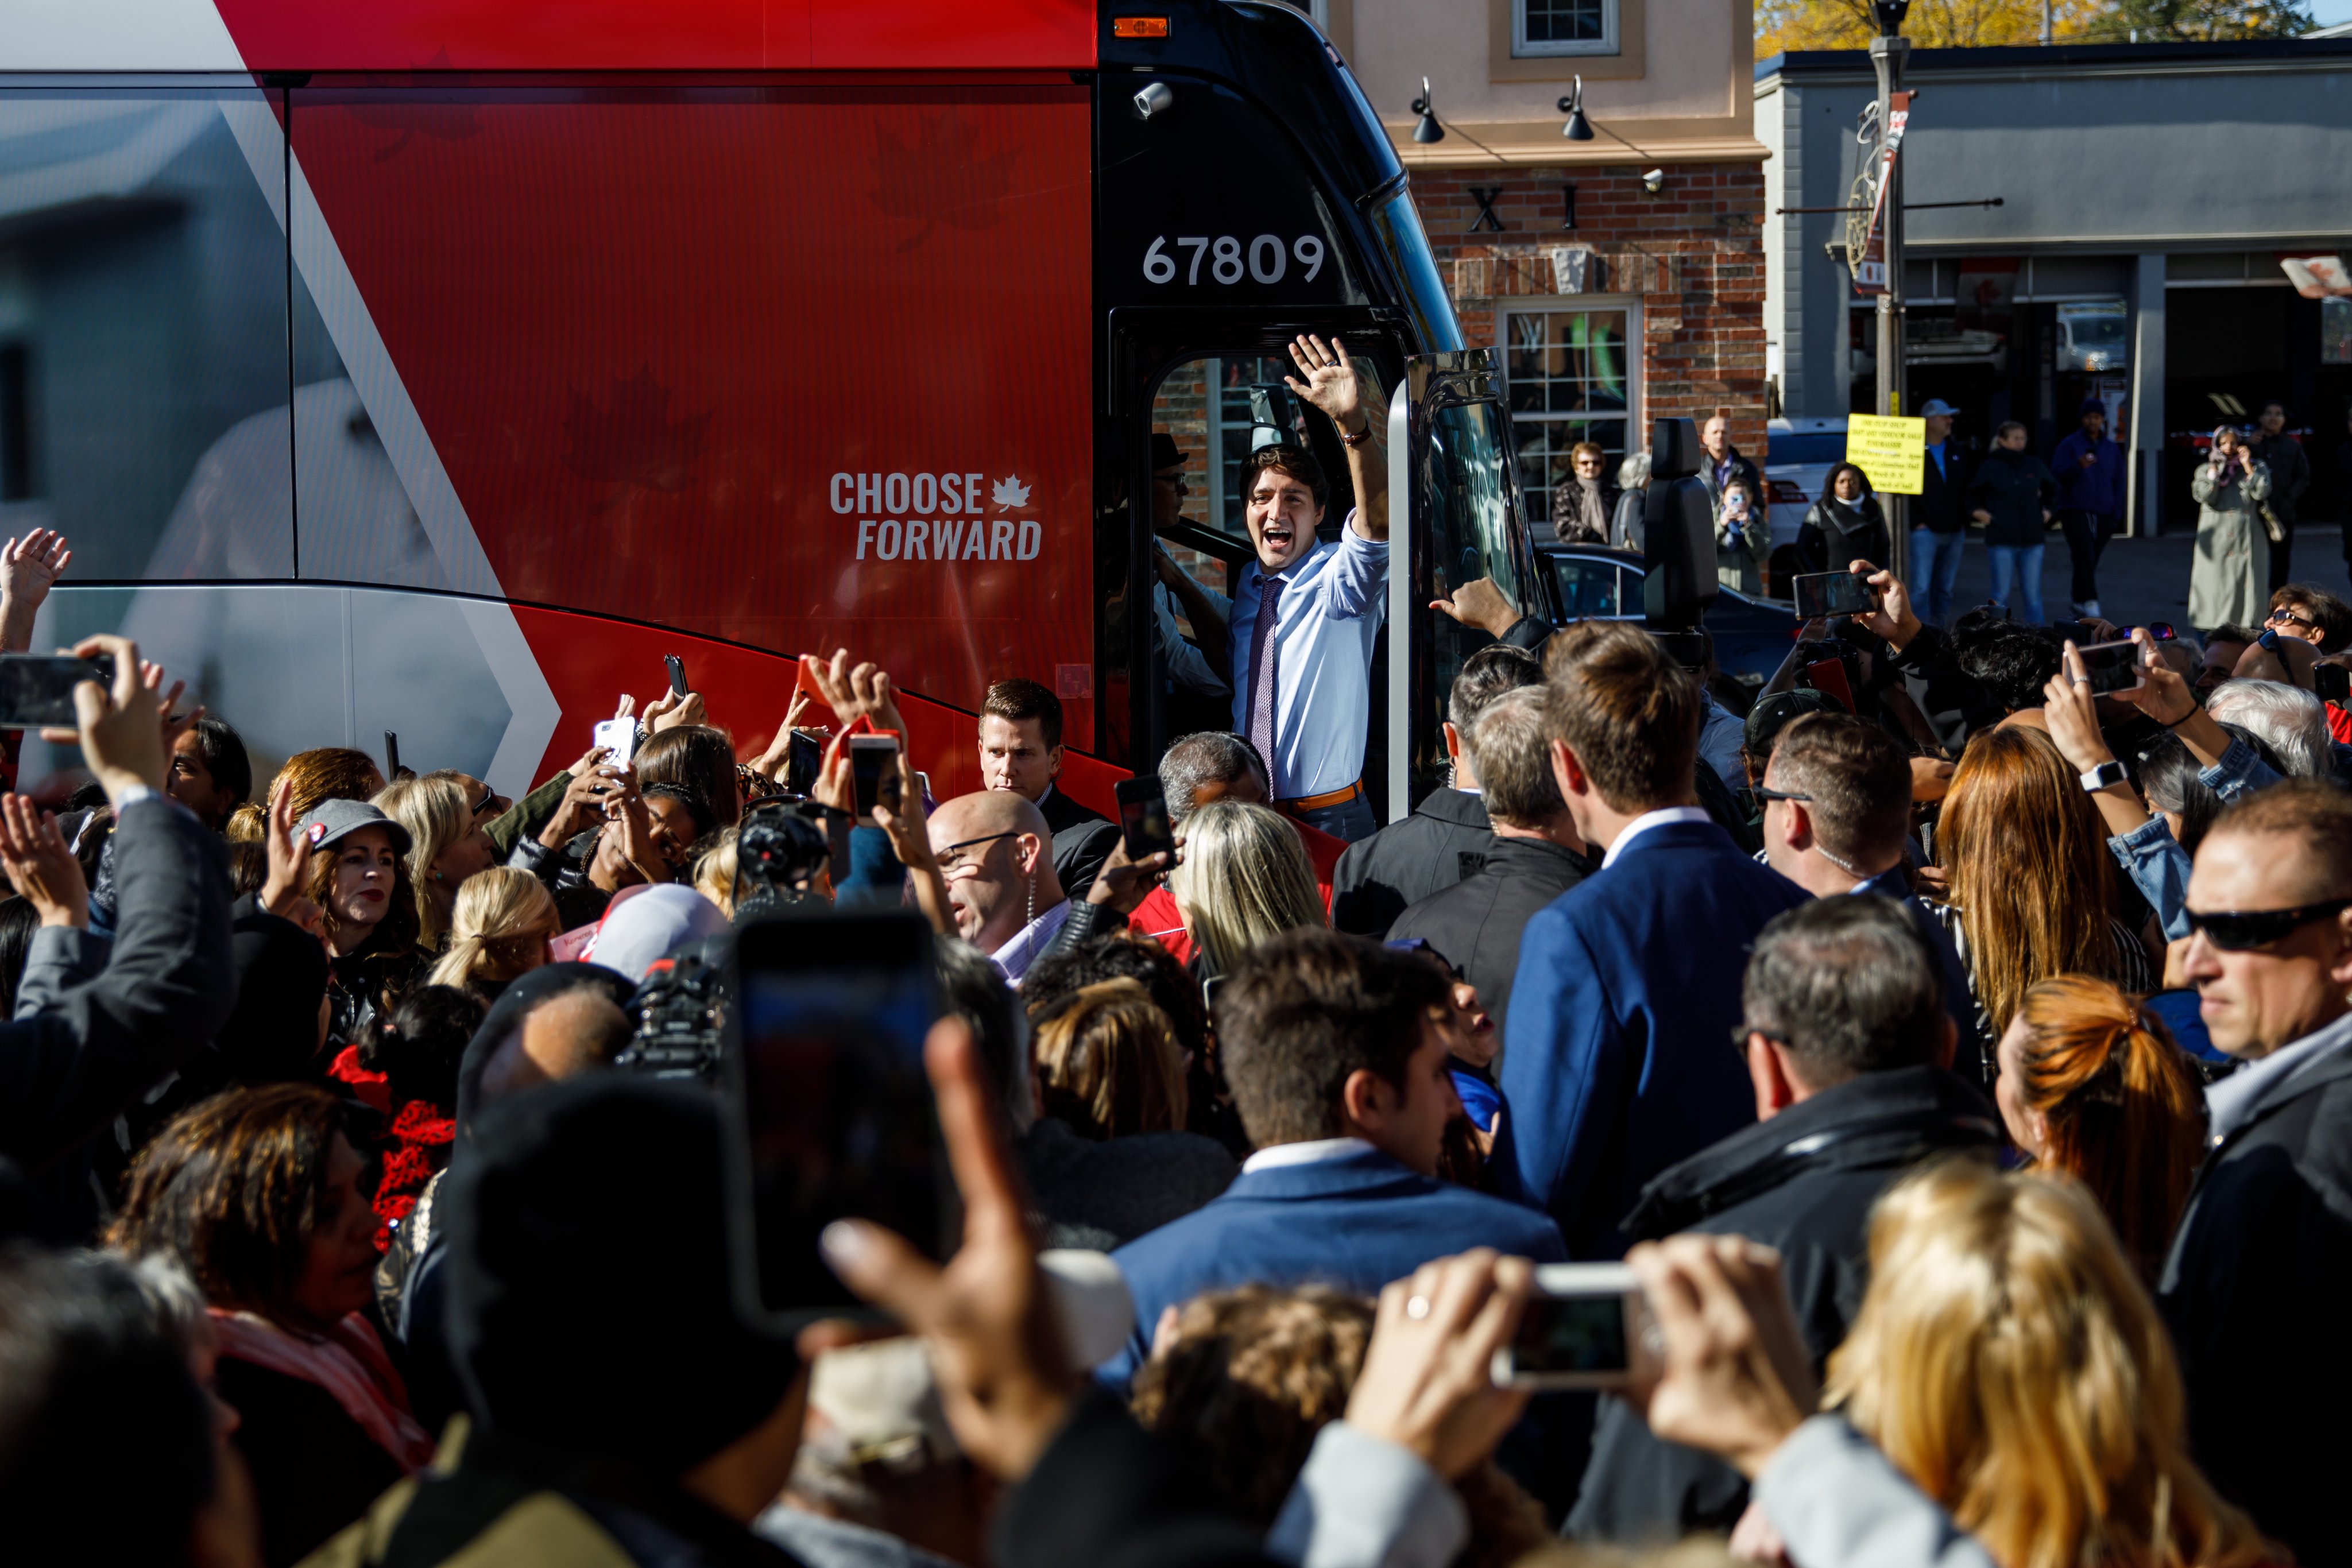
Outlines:
[{"label": "yellow autumn trees above the grey building's roof", "polygon": [[[1860,49],[1877,38],[1870,0],[1757,0],[1757,59],[1788,49]],[[2312,28],[2307,0],[2051,0],[2056,42],[2201,42],[2291,38]],[[1983,49],[2042,38],[2042,0],[1912,0],[1903,35],[1917,49]]]}]

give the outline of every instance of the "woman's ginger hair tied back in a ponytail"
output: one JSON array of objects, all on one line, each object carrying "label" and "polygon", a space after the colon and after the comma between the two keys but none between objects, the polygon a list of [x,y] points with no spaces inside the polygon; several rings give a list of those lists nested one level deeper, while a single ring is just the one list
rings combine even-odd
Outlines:
[{"label": "woman's ginger hair tied back in a ponytail", "polygon": [[2025,990],[1992,1098],[2034,1166],[2091,1190],[2140,1281],[2154,1286],[2204,1154],[2204,1093],[2164,1025],[2107,980]]}]

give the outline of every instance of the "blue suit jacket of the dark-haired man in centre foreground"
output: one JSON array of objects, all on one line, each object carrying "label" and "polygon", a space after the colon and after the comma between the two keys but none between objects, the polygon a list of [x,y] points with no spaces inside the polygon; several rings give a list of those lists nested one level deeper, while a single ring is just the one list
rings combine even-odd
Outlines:
[{"label": "blue suit jacket of the dark-haired man in centre foreground", "polygon": [[1136,1298],[1127,1349],[1096,1378],[1127,1387],[1160,1309],[1232,1286],[1336,1286],[1378,1295],[1423,1262],[1472,1246],[1566,1262],[1559,1227],[1517,1204],[1418,1175],[1378,1150],[1244,1171],[1223,1197],[1112,1253]]}]

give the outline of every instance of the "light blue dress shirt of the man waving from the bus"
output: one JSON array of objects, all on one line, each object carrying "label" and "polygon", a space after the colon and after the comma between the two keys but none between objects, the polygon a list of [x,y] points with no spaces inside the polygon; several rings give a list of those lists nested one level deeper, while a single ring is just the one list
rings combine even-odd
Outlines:
[{"label": "light blue dress shirt of the man waving from the bus", "polygon": [[[1225,602],[1232,729],[1249,733],[1249,637],[1258,625],[1258,562]],[[1317,543],[1282,574],[1275,609],[1275,799],[1345,790],[1364,776],[1371,729],[1371,642],[1388,614],[1388,545],[1355,531]],[[1211,595],[1218,597],[1218,595]]]}]

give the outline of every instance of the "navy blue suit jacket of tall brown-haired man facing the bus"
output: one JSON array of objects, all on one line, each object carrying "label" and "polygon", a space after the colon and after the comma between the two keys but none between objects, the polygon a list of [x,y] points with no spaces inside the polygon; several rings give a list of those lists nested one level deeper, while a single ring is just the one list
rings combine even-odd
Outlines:
[{"label": "navy blue suit jacket of tall brown-haired man facing the bus", "polygon": [[1496,1178],[1621,1258],[1649,1178],[1757,1119],[1731,1044],[1748,947],[1811,893],[1715,823],[1663,823],[1526,922],[1503,1039]]}]

